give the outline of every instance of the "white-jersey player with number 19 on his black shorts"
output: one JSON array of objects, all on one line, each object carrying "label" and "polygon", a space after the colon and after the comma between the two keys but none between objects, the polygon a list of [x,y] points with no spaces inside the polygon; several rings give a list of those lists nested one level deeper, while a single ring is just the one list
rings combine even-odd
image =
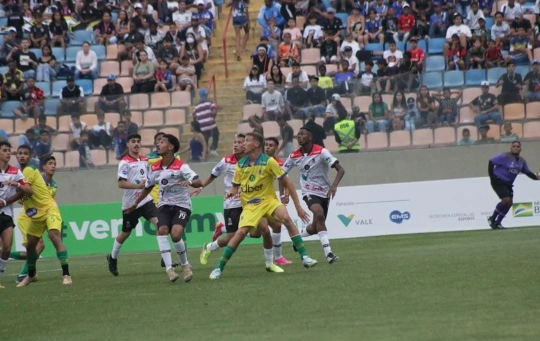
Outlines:
[{"label": "white-jersey player with number 19 on his black shorts", "polygon": [[174,157],[174,153],[179,149],[180,142],[174,135],[166,134],[161,137],[156,149],[161,159],[151,166],[146,177],[145,188],[135,203],[125,210],[125,213],[136,210],[139,203],[150,194],[154,185],[159,184],[157,239],[161,258],[165,262],[169,279],[171,282],[176,281],[179,276],[172,267],[171,245],[168,241],[170,234],[174,250],[180,258],[182,276],[186,282],[189,282],[193,278],[193,272],[187,262],[186,245],[182,240],[182,233],[191,215],[188,187],[199,188],[203,185],[203,181],[187,163]]}]

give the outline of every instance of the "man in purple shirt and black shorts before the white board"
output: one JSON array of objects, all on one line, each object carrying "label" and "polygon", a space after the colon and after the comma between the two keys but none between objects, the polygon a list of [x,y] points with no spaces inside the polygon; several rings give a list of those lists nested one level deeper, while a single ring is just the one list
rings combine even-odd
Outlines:
[{"label": "man in purple shirt and black shorts before the white board", "polygon": [[501,222],[512,207],[512,198],[514,198],[512,187],[517,175],[524,173],[533,180],[540,179],[538,173],[531,172],[527,162],[519,156],[519,153],[521,153],[521,142],[514,141],[510,152],[500,153],[489,159],[488,173],[491,188],[501,199],[501,202],[495,207],[493,215],[488,217],[489,226],[494,230],[504,229]]}]

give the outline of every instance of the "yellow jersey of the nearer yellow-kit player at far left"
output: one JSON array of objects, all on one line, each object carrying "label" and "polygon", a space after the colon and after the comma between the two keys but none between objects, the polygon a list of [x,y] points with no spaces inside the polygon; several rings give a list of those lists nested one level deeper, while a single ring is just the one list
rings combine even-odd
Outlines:
[{"label": "yellow jersey of the nearer yellow-kit player at far left", "polygon": [[[47,212],[56,207],[55,199],[52,196],[53,191],[49,189],[49,186],[43,180],[43,176],[35,166],[26,166],[23,175],[33,190],[33,195],[23,197],[23,210],[32,219],[45,219]],[[56,190],[54,192],[56,195]]]}]

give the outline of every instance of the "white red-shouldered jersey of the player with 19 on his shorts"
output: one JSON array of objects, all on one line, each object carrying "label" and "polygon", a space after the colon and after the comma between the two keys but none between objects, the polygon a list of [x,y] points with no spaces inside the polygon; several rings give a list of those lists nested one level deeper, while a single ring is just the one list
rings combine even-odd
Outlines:
[{"label": "white red-shouldered jersey of the player with 19 on his shorts", "polygon": [[177,158],[169,166],[163,165],[163,159],[160,159],[151,166],[145,186],[159,185],[158,207],[171,205],[191,210],[189,186],[179,186],[178,183],[198,177],[187,163]]}]

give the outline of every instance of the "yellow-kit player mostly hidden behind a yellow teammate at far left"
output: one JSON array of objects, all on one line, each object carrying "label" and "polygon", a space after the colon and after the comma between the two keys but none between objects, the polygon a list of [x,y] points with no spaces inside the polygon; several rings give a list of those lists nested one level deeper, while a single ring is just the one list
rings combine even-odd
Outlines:
[{"label": "yellow-kit player mostly hidden behind a yellow teammate at far left", "polygon": [[[49,189],[49,192],[51,192],[51,196],[54,199],[56,197],[56,192],[58,191],[58,185],[53,179],[53,176],[56,173],[56,158],[54,156],[48,156],[43,159],[42,161],[42,176],[43,180],[45,180],[45,184],[47,185],[47,188]],[[22,202],[20,202],[22,204]],[[21,233],[23,235],[23,246],[26,247],[26,231],[28,231],[28,226],[31,223],[30,217],[28,217],[23,210],[19,213],[19,216],[17,217],[17,227],[19,230],[21,230]],[[36,252],[37,256],[39,258],[39,255],[43,252],[45,249],[45,243],[43,243],[43,238],[39,239],[39,242],[36,245]],[[13,252],[12,252],[13,253]],[[10,254],[11,256],[11,254]],[[26,259],[26,252],[21,251],[19,252],[19,257],[15,259]],[[17,276],[17,284],[21,283],[21,281],[28,276],[28,264],[25,262],[23,269],[21,270],[21,273]]]}]

